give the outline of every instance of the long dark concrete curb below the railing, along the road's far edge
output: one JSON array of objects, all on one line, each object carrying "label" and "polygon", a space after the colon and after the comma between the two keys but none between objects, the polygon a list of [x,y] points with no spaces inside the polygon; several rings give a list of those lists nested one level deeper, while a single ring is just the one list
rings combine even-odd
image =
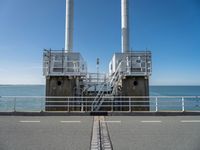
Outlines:
[{"label": "long dark concrete curb below the railing, along the road's far edge", "polygon": [[0,116],[200,116],[200,112],[0,112]]}]

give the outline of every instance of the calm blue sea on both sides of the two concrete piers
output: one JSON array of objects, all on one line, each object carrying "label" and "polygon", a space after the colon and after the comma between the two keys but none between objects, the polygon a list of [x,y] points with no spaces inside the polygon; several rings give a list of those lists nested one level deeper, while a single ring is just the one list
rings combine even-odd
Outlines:
[{"label": "calm blue sea on both sides of the two concrete piers", "polygon": [[[13,98],[1,96],[45,96],[44,85],[0,85],[0,111],[44,110],[44,99]],[[150,86],[150,96],[200,96],[200,86]],[[155,99],[151,99],[151,110],[155,110]],[[158,99],[159,110],[181,110],[181,98]],[[200,111],[200,98],[185,98],[186,110]]]}]

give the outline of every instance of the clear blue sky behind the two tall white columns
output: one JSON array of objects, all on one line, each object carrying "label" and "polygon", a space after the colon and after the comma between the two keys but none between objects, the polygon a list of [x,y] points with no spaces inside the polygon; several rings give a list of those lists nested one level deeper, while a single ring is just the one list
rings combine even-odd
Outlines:
[{"label": "clear blue sky behind the two tall white columns", "polygon": [[[107,72],[121,51],[120,0],[74,0],[74,50]],[[130,0],[131,47],[152,51],[151,85],[200,85],[200,0]],[[43,84],[44,48],[64,48],[65,0],[0,0],[0,84]]]}]

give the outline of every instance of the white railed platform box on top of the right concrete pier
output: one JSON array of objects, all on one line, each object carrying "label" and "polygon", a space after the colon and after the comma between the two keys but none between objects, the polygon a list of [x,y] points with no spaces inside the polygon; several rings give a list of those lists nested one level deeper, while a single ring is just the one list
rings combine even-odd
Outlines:
[{"label": "white railed platform box on top of the right concrete pier", "polygon": [[119,70],[124,76],[150,76],[152,73],[152,56],[150,51],[115,53],[109,67],[109,75]]}]

